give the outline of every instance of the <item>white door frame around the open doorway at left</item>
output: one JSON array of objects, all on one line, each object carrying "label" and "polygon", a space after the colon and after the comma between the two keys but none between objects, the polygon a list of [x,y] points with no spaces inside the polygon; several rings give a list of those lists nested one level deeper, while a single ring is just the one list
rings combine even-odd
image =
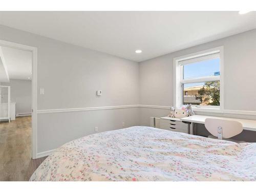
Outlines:
[{"label": "white door frame around the open doorway at left", "polygon": [[37,158],[37,48],[0,39],[0,46],[32,52],[32,159]]}]

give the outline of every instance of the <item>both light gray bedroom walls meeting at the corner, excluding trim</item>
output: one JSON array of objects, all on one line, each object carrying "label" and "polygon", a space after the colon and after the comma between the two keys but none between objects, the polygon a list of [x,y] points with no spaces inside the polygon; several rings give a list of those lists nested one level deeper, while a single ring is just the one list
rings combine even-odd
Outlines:
[{"label": "both light gray bedroom walls meeting at the corner, excluding trim", "polygon": [[[224,46],[224,107],[256,111],[256,30],[208,42],[141,63],[0,26],[0,39],[37,47],[38,110],[114,105],[172,105],[173,58]],[[39,95],[45,88],[45,95]],[[140,89],[139,89],[140,88]],[[97,97],[96,90],[102,90]],[[242,91],[241,91],[242,90]],[[248,99],[250,98],[250,99]],[[94,132],[149,125],[168,110],[127,108],[38,114],[38,153]],[[255,118],[254,116],[247,118]],[[255,137],[256,138],[256,137]]]}]

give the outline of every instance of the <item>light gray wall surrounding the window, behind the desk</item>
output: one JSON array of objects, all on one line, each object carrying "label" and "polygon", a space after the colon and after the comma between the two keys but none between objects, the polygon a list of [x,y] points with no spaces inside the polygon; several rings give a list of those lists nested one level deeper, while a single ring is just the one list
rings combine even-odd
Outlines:
[{"label": "light gray wall surrounding the window, behind the desk", "polygon": [[[173,105],[173,59],[219,46],[224,46],[224,109],[256,111],[256,29],[139,63],[140,104]],[[149,125],[151,116],[162,117],[165,109],[140,109],[140,124]],[[197,113],[234,118],[256,119],[249,115]],[[206,134],[201,126],[202,135]],[[200,129],[199,129],[200,134]],[[256,142],[256,133],[243,133]]]}]

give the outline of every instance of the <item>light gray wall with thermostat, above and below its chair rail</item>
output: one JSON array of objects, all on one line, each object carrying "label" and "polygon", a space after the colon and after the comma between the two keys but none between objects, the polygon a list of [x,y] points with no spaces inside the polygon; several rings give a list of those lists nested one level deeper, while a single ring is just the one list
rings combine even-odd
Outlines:
[{"label": "light gray wall with thermostat, above and below its chair rail", "polygon": [[[137,62],[0,25],[0,39],[37,47],[38,110],[139,103]],[[45,95],[39,95],[39,88]],[[102,96],[96,96],[102,90]],[[139,124],[139,109],[37,114],[37,152],[70,140]]]}]

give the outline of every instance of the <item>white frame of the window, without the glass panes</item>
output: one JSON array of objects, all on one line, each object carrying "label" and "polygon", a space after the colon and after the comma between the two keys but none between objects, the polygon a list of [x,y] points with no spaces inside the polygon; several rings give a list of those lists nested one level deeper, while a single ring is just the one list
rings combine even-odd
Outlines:
[{"label": "white frame of the window, without the glass panes", "polygon": [[[184,65],[186,63],[186,60],[193,59],[197,61],[197,58],[199,57],[208,57],[210,58],[214,54],[219,54],[220,57],[220,75],[218,76],[208,76],[208,77],[199,77],[199,78],[193,78],[193,79],[182,79],[183,76],[183,70],[181,69],[181,65]],[[183,62],[181,62],[183,61]],[[183,64],[182,64],[183,63]],[[174,66],[174,106],[177,108],[184,106],[182,102],[183,93],[182,93],[182,84],[183,83],[194,83],[194,82],[205,82],[205,81],[220,81],[220,106],[203,106],[203,105],[193,105],[194,111],[201,111],[201,112],[216,112],[216,113],[223,113],[224,109],[224,103],[223,103],[223,74],[224,74],[224,52],[223,52],[223,46],[216,47],[204,51],[200,51],[197,53],[184,55],[180,57],[174,58],[173,62]]]}]

